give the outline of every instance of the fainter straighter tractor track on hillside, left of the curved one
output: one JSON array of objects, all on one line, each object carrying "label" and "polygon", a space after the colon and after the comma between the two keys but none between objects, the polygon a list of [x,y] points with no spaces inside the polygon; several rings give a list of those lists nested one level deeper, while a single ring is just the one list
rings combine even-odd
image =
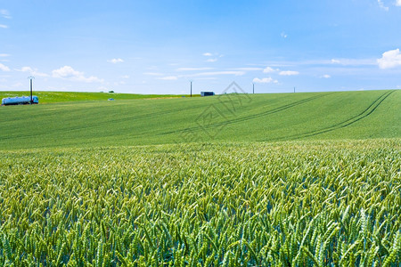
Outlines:
[{"label": "fainter straighter tractor track on hillside, left of the curved one", "polygon": [[257,114],[252,114],[249,116],[245,116],[245,117],[236,117],[236,118],[232,118],[232,119],[227,119],[223,122],[218,122],[218,123],[214,123],[214,124],[210,124],[210,125],[197,125],[197,126],[192,126],[192,127],[187,127],[184,129],[180,129],[180,130],[176,130],[176,131],[169,131],[169,132],[165,132],[165,133],[161,133],[159,135],[165,135],[165,134],[180,134],[180,133],[185,133],[188,131],[199,131],[199,130],[207,130],[207,129],[211,129],[211,128],[215,128],[218,126],[225,126],[225,125],[233,125],[235,123],[241,123],[244,121],[248,121],[254,118],[258,118],[258,117],[265,117],[267,115],[271,115],[277,112],[280,112],[282,110],[285,109],[291,109],[293,107],[299,106],[301,104],[307,103],[308,101],[314,101],[315,99],[330,95],[332,93],[325,93],[323,95],[315,95],[312,97],[308,97],[306,99],[300,100],[300,101],[295,101],[295,102],[291,102],[289,104],[285,104],[281,107],[277,107],[274,109],[270,109],[270,110],[266,110],[264,112],[261,113],[257,113]]}]

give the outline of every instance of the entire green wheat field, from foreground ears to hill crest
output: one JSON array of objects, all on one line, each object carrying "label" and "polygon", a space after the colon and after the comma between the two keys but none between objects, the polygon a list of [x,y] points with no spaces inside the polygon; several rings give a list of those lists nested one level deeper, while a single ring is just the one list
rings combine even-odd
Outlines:
[{"label": "entire green wheat field, from foreground ears to hill crest", "polygon": [[86,94],[0,107],[1,265],[401,264],[401,91]]}]

